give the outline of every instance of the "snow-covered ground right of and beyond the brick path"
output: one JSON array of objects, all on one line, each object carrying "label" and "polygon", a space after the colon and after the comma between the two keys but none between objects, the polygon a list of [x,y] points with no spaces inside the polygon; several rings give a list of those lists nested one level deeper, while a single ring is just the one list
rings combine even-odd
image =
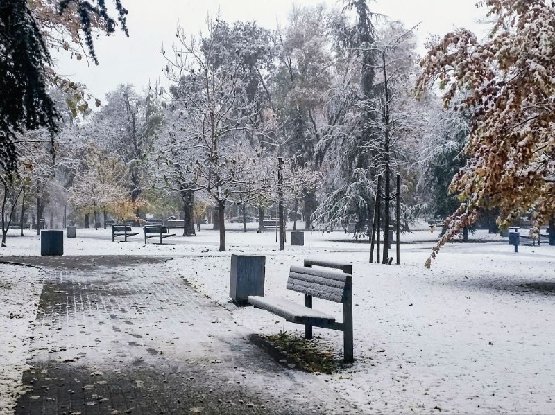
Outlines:
[{"label": "snow-covered ground right of and beyond the brick path", "polygon": [[[305,233],[304,247],[288,243],[279,251],[275,233],[245,234],[237,231],[240,224],[231,226],[227,252],[217,250],[218,233],[208,229],[194,238],[167,238],[167,245],[153,239],[144,245],[142,234],[127,244],[112,242],[110,231],[78,229],[64,249],[67,255],[175,258],[168,263],[173,270],[255,333],[301,333],[302,326],[233,306],[230,254],[265,255],[266,295],[299,303],[301,294],[285,290],[290,265],[307,257],[352,263],[356,362],[318,375],[346,399],[369,413],[555,412],[555,247],[521,246],[515,254],[507,238],[477,231],[471,240],[488,243],[450,244],[427,270],[438,232],[425,226],[402,236],[401,265],[369,264],[369,245],[353,243],[342,231]],[[37,236],[13,235],[0,261],[40,254]],[[0,264],[2,276],[11,269]],[[341,319],[338,304],[315,299],[314,308]],[[342,333],[314,332],[341,353]]]}]

